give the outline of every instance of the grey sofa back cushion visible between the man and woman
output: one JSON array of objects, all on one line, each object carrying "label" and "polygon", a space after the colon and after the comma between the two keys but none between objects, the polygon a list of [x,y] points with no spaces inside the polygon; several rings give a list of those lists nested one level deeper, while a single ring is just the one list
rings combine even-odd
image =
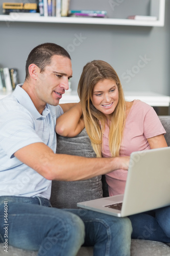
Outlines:
[{"label": "grey sofa back cushion visible between the man and woman", "polygon": [[[74,138],[57,135],[57,154],[96,157],[86,130]],[[68,170],[69,171],[69,170]],[[103,197],[101,176],[83,181],[53,181],[51,204],[57,208],[77,208],[77,203]]]}]

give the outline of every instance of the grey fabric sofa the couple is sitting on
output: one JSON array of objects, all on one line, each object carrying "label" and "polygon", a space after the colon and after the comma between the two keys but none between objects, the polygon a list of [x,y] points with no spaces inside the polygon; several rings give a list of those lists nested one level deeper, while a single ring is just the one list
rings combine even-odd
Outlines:
[{"label": "grey fabric sofa the couple is sitting on", "polygon": [[[170,116],[159,116],[165,130],[166,141],[170,146]],[[74,138],[57,136],[57,153],[95,157],[85,129]],[[69,169],[68,169],[69,172]],[[108,196],[107,184],[104,176],[98,176],[85,181],[52,182],[51,203],[58,208],[76,208],[77,202]],[[0,255],[6,256],[4,245],[0,244]],[[170,255],[170,244],[142,239],[132,239],[132,256]],[[8,246],[9,256],[37,256],[37,251],[26,251]],[[92,256],[92,247],[81,247],[77,256]],[[49,255],[51,256],[51,255]],[[114,256],[114,254],[113,254]],[[116,256],[116,255],[115,255]]]}]

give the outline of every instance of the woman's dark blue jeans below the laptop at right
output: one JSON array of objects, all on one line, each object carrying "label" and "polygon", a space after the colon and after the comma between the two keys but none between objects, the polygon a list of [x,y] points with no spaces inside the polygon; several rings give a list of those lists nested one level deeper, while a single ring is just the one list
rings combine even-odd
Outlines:
[{"label": "woman's dark blue jeans below the laptop at right", "polygon": [[170,243],[170,206],[129,216],[132,238]]}]

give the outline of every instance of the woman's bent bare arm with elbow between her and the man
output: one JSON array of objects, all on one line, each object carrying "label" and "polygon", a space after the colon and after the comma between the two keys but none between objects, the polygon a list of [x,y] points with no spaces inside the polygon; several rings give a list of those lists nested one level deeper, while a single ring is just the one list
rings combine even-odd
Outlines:
[{"label": "woman's bent bare arm with elbow between her and the man", "polygon": [[[60,105],[62,108],[62,104]],[[84,129],[81,103],[77,103],[57,118],[56,133],[64,137],[75,137]]]}]

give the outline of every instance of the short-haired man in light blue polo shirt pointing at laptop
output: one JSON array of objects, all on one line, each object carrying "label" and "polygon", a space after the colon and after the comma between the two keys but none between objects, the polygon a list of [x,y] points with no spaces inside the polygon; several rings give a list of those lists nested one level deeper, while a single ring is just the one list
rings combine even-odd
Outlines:
[{"label": "short-haired man in light blue polo shirt pointing at laptop", "polygon": [[8,244],[38,256],[73,256],[83,243],[94,246],[94,255],[130,255],[128,218],[50,208],[52,180],[88,179],[129,164],[126,157],[55,154],[56,119],[70,107],[58,104],[71,76],[65,49],[39,45],[28,56],[25,82],[0,101],[0,242],[8,224]]}]

